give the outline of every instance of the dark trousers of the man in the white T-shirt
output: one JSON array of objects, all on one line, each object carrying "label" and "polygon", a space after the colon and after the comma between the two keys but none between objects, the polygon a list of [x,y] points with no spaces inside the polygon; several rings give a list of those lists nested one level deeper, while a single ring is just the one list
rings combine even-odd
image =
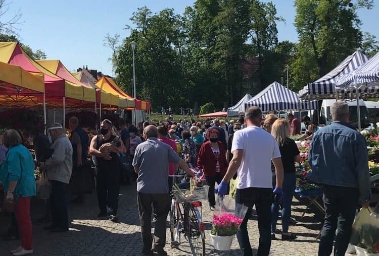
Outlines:
[{"label": "dark trousers of the man in the white T-shirt", "polygon": [[271,247],[271,204],[272,188],[248,187],[237,189],[235,203],[244,204],[248,211],[237,232],[237,239],[244,256],[252,256],[249,233],[247,230],[248,220],[251,216],[252,208],[255,205],[258,216],[259,246],[258,256],[268,256]]}]

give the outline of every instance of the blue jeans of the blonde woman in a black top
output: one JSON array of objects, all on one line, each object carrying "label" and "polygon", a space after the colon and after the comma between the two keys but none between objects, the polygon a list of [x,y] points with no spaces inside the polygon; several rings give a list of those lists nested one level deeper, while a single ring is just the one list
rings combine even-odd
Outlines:
[{"label": "blue jeans of the blonde woman in a black top", "polygon": [[[283,198],[281,202],[281,225],[282,233],[288,232],[289,221],[291,217],[291,204],[296,188],[295,173],[285,173],[283,179]],[[279,203],[272,203],[271,206],[271,233],[275,233],[276,221],[279,214]]]}]

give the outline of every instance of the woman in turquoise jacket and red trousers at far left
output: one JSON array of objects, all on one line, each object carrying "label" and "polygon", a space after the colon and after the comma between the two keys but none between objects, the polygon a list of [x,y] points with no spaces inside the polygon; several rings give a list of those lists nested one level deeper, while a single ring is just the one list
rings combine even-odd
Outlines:
[{"label": "woman in turquoise jacket and red trousers at far left", "polygon": [[15,215],[19,227],[21,246],[11,251],[20,256],[33,253],[30,197],[35,196],[33,157],[22,145],[21,136],[15,130],[4,133],[7,155],[0,166],[0,180],[7,193],[8,202],[16,202]]}]

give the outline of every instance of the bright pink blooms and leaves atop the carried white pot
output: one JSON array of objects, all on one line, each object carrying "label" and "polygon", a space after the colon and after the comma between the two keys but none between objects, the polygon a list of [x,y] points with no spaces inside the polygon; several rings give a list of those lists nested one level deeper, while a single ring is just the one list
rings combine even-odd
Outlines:
[{"label": "bright pink blooms and leaves atop the carried white pot", "polygon": [[231,213],[213,215],[212,235],[231,236],[237,233],[243,219]]}]

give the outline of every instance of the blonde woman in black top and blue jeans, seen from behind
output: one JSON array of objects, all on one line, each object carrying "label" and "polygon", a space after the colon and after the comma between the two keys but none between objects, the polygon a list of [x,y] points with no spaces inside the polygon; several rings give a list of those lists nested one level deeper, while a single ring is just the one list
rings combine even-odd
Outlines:
[{"label": "blonde woman in black top and blue jeans, seen from behind", "polygon": [[[284,169],[283,198],[281,206],[281,240],[293,240],[296,236],[288,232],[291,204],[296,187],[295,162],[300,161],[300,151],[294,140],[290,139],[290,123],[286,119],[277,119],[271,127],[271,135],[279,144],[281,161]],[[276,221],[278,218],[279,202],[271,206],[271,238],[275,239]]]}]

